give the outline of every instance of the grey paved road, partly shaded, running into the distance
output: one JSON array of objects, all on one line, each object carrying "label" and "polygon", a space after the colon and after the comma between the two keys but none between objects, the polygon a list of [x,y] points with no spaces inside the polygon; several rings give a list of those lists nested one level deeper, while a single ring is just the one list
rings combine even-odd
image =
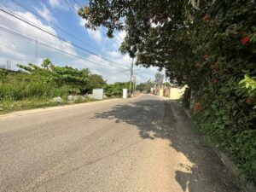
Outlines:
[{"label": "grey paved road, partly shaded, running into the distance", "polygon": [[0,117],[0,191],[240,191],[158,96]]}]

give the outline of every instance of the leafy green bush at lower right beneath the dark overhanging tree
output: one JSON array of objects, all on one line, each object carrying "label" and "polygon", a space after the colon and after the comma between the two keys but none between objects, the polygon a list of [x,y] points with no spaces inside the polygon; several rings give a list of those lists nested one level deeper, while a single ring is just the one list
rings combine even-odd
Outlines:
[{"label": "leafy green bush at lower right beneath the dark overhanging tree", "polygon": [[256,86],[248,79],[231,78],[218,90],[207,86],[196,92],[193,118],[256,183]]}]

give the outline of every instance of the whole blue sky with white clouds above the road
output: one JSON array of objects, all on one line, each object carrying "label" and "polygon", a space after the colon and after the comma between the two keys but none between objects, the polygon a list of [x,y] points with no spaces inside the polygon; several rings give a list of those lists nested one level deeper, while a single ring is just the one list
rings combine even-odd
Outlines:
[{"label": "whole blue sky with white clouds above the road", "polygon": [[[15,2],[20,3],[25,9]],[[85,29],[85,20],[76,14],[76,9],[79,7],[76,2],[84,5],[86,1],[0,0],[2,9],[67,40],[67,42],[61,41],[0,11],[0,27],[8,30],[8,32],[0,30],[0,64],[11,61],[12,67],[15,68],[16,63],[32,62],[39,65],[44,58],[49,58],[58,66],[89,68],[92,73],[101,74],[108,83],[128,81],[131,58],[128,55],[121,55],[118,50],[120,42],[125,38],[125,32],[115,32],[114,38],[109,39],[105,35],[106,30],[102,27],[96,31]],[[15,32],[15,35],[10,32]],[[17,37],[17,34],[23,38]],[[155,67],[148,69],[135,67],[137,82],[154,80],[156,71]]]}]

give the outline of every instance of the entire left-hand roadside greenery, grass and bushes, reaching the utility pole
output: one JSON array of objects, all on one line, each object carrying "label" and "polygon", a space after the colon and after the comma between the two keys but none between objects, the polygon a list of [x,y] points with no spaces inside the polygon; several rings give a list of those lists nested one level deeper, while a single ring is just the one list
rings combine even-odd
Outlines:
[{"label": "entire left-hand roadside greenery, grass and bushes, reaching the utility pole", "polygon": [[107,84],[102,76],[90,73],[89,69],[58,67],[49,59],[39,67],[32,63],[17,66],[18,72],[0,69],[0,113],[87,102],[92,100],[88,94],[96,88],[104,88],[106,96],[121,96],[122,89],[127,88],[127,83]]}]

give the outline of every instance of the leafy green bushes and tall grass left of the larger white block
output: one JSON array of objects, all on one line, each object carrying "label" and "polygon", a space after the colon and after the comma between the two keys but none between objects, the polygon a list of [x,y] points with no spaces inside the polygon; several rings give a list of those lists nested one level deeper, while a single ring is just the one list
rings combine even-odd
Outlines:
[{"label": "leafy green bushes and tall grass left of the larger white block", "polygon": [[102,76],[92,74],[88,69],[56,67],[46,59],[41,67],[32,63],[17,65],[22,72],[10,73],[1,70],[0,101],[21,101],[27,98],[66,98],[70,93],[87,93],[102,87]]}]

